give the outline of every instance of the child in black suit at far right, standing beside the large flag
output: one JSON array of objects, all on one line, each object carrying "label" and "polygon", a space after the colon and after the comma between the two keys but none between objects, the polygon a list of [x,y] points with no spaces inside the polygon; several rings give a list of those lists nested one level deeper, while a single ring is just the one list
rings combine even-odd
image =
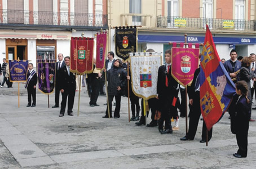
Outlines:
[{"label": "child in black suit at far right, standing beside the large flag", "polygon": [[239,149],[234,157],[247,157],[248,152],[248,130],[250,119],[250,100],[248,98],[249,88],[245,81],[236,82],[236,94],[233,97],[229,114],[231,121],[231,131],[236,135],[237,145]]}]

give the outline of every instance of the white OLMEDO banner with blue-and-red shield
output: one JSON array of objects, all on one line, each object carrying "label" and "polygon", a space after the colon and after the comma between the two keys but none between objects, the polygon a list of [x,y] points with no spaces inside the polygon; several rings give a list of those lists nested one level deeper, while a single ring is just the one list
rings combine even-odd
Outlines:
[{"label": "white OLMEDO banner with blue-and-red shield", "polygon": [[[138,53],[136,53],[138,54]],[[131,88],[136,96],[148,100],[156,97],[158,68],[162,65],[162,56],[131,56]]]}]

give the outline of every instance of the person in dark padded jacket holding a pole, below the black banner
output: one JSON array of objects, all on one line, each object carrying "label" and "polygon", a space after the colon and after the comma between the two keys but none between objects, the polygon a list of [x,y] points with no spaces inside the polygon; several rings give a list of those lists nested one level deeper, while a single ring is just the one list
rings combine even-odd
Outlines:
[{"label": "person in dark padded jacket holding a pole, below the black banner", "polygon": [[[114,109],[114,118],[120,118],[121,96],[127,84],[126,75],[127,73],[125,72],[125,70],[123,70],[122,61],[120,59],[115,60],[114,67],[107,71],[110,117],[112,117],[112,101],[113,98],[115,98],[116,108]],[[106,115],[104,115],[103,118],[109,118],[108,107],[106,110]]]}]

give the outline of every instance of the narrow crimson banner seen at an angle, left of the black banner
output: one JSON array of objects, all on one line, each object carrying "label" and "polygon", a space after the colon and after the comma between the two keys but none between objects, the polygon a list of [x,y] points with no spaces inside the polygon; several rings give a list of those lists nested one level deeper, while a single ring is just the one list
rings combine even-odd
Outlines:
[{"label": "narrow crimson banner seen at an angle, left of the black banner", "polygon": [[102,70],[107,56],[107,32],[97,34],[96,43],[96,69]]}]

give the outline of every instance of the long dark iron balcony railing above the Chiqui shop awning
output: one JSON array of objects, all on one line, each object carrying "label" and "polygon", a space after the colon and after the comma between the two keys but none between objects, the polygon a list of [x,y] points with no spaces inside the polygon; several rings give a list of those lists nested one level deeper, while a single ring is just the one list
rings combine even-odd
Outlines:
[{"label": "long dark iron balcony railing above the Chiqui shop awning", "polygon": [[46,11],[0,10],[1,24],[108,26],[107,15]]}]

